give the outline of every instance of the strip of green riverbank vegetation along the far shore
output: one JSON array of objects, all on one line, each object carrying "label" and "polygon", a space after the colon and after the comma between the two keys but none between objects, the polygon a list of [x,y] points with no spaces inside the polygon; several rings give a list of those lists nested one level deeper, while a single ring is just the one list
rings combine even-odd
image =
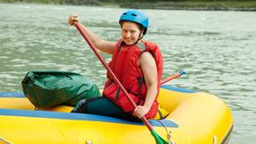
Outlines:
[{"label": "strip of green riverbank vegetation along the far shore", "polygon": [[135,9],[256,11],[255,0],[0,0],[0,3],[74,4]]}]

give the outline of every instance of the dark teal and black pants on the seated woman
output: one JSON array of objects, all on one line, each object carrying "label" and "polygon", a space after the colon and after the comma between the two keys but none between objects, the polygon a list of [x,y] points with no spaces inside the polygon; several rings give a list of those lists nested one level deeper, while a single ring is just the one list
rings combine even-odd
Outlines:
[{"label": "dark teal and black pants on the seated woman", "polygon": [[131,113],[124,112],[107,97],[94,97],[80,100],[72,112],[99,114],[119,119],[141,121],[141,119],[134,117]]}]

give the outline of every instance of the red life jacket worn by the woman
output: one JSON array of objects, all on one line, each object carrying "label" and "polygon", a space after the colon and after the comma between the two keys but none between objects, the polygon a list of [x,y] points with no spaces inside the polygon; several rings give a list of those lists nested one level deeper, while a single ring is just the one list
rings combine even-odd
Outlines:
[{"label": "red life jacket worn by the woman", "polygon": [[[154,56],[157,67],[158,92],[161,85],[162,77],[162,54],[159,48],[151,42],[138,42],[136,45],[127,46],[122,40],[118,40],[114,50],[112,60],[109,62],[109,67],[113,70],[118,80],[124,85],[125,90],[130,97],[138,105],[143,105],[146,94],[147,85],[144,82],[144,76],[139,68],[139,57],[143,52],[149,52]],[[119,105],[124,112],[133,113],[134,108],[131,102],[124,96],[124,93],[114,83],[112,76],[107,75],[109,80],[105,83],[103,96],[108,97],[112,102]],[[158,110],[158,102],[155,96],[149,112],[145,115],[147,119],[153,119]]]}]

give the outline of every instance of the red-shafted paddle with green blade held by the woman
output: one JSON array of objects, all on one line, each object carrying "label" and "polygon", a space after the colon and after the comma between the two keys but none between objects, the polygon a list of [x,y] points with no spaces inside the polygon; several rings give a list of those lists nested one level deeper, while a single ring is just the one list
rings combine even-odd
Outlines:
[{"label": "red-shafted paddle with green blade held by the woman", "polygon": [[[113,80],[115,81],[115,83],[117,83],[117,85],[120,87],[120,89],[124,92],[125,97],[132,103],[132,106],[134,108],[137,107],[137,105],[134,103],[134,101],[132,100],[131,97],[129,97],[128,92],[124,89],[124,86],[122,85],[122,83],[119,82],[119,80],[117,79],[117,76],[114,74],[114,72],[111,70],[111,68],[109,68],[108,63],[103,59],[102,55],[100,55],[97,50],[96,47],[94,47],[94,44],[92,43],[91,40],[89,40],[86,32],[84,32],[83,28],[81,27],[81,25],[78,22],[75,22],[73,24],[78,31],[80,32],[80,34],[83,36],[83,38],[87,41],[87,44],[92,48],[92,50],[94,51],[94,54],[96,54],[96,56],[99,58],[99,60],[102,62],[103,66],[109,71],[110,75],[113,77]],[[143,116],[141,118],[141,120],[143,121],[143,123],[147,126],[148,130],[150,131],[151,135],[154,137],[155,143],[157,144],[168,144],[169,142],[162,139],[161,136],[159,136],[153,129],[152,126],[150,126],[149,122],[147,121],[147,119]]]}]

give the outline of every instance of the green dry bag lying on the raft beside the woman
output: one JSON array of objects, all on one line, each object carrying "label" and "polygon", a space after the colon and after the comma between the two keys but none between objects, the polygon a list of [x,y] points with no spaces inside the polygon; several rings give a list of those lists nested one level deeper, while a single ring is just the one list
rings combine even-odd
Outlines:
[{"label": "green dry bag lying on the raft beside the woman", "polygon": [[21,84],[25,96],[36,108],[74,106],[81,99],[101,96],[96,85],[72,72],[28,71]]}]

